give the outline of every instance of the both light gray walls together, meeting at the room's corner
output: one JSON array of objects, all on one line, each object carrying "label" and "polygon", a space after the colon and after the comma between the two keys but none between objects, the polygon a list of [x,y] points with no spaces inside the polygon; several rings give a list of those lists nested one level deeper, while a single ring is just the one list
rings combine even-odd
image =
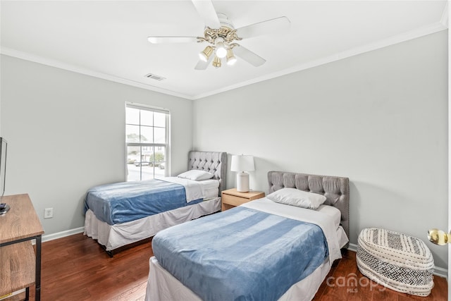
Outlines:
[{"label": "both light gray walls together, meeting at the room's corner", "polygon": [[[30,194],[46,235],[82,227],[85,191],[125,179],[125,102],[171,110],[173,174],[193,145],[253,154],[254,190],[270,170],[349,177],[354,244],[369,226],[447,228],[445,31],[194,103],[1,56],[6,194]],[[447,248],[427,244],[445,268]]]}]

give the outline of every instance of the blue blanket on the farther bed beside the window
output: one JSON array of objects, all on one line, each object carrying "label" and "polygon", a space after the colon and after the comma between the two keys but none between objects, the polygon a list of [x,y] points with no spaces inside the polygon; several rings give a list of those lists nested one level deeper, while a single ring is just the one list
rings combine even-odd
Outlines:
[{"label": "blue blanket on the farther bed beside the window", "polygon": [[85,211],[113,225],[202,202],[186,202],[185,187],[163,180],[99,185],[87,191]]}]

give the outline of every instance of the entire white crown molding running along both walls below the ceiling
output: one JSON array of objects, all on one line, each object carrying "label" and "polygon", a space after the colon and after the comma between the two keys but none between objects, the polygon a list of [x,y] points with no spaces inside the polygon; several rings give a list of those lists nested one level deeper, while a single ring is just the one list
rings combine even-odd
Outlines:
[{"label": "entire white crown molding running along both walls below the ceiling", "polygon": [[348,58],[350,56],[355,56],[357,54],[363,54],[363,53],[368,52],[368,51],[381,49],[383,47],[388,47],[388,46],[393,45],[393,44],[406,42],[406,41],[408,41],[410,39],[416,39],[418,37],[423,37],[425,35],[431,35],[431,34],[433,34],[435,32],[440,32],[442,30],[446,30],[447,29],[447,23],[448,23],[448,20],[449,20],[449,16],[448,16],[447,11],[448,11],[448,4],[446,4],[445,10],[443,11],[442,17],[440,18],[440,21],[438,23],[435,23],[435,24],[432,24],[432,25],[428,25],[426,27],[421,27],[421,28],[416,29],[416,30],[411,30],[409,32],[404,32],[404,33],[402,33],[400,35],[395,35],[393,37],[388,37],[386,39],[381,39],[378,42],[374,42],[374,43],[371,43],[371,44],[366,44],[366,45],[364,45],[362,47],[356,47],[354,49],[349,49],[347,51],[342,51],[342,52],[340,52],[338,54],[333,54],[331,56],[326,56],[326,57],[324,57],[322,59],[318,59],[318,60],[315,60],[315,61],[310,61],[310,62],[303,63],[303,64],[300,64],[300,65],[297,65],[297,66],[293,66],[291,68],[280,70],[280,71],[278,71],[276,73],[271,73],[271,74],[268,74],[268,75],[261,76],[259,78],[254,78],[252,80],[247,80],[245,82],[240,82],[239,84],[236,84],[236,85],[230,85],[228,87],[223,87],[223,88],[218,89],[218,90],[213,90],[213,91],[205,92],[205,93],[202,93],[202,94],[197,94],[197,95],[194,95],[194,96],[187,95],[187,94],[181,94],[179,92],[174,92],[174,91],[171,91],[171,90],[161,89],[159,87],[154,87],[152,85],[145,85],[145,84],[142,84],[141,82],[135,82],[133,80],[127,80],[125,78],[118,78],[118,77],[113,76],[113,75],[107,75],[107,74],[104,74],[104,73],[99,73],[99,72],[94,71],[94,70],[89,70],[89,69],[86,69],[86,68],[80,68],[78,66],[73,66],[73,65],[70,65],[68,63],[63,63],[61,61],[47,59],[47,58],[44,58],[44,57],[41,57],[41,56],[36,56],[34,54],[29,54],[29,53],[26,53],[26,52],[23,52],[23,51],[10,49],[10,48],[7,48],[7,47],[1,47],[0,48],[0,54],[5,54],[6,56],[13,56],[13,57],[16,57],[18,59],[23,59],[23,60],[26,60],[26,61],[32,61],[32,62],[35,62],[35,63],[41,63],[43,65],[52,66],[52,67],[55,67],[55,68],[61,68],[61,69],[64,69],[64,70],[73,71],[75,73],[81,73],[81,74],[84,74],[84,75],[93,76],[94,78],[101,78],[101,79],[104,79],[104,80],[110,80],[110,81],[113,81],[113,82],[118,82],[118,83],[121,83],[121,84],[124,84],[124,85],[130,85],[132,87],[140,87],[140,88],[145,89],[145,90],[151,90],[151,91],[159,92],[159,93],[162,93],[162,94],[168,94],[168,95],[172,95],[172,96],[175,96],[175,97],[180,97],[180,98],[183,98],[183,99],[195,100],[195,99],[202,99],[204,97],[209,97],[209,96],[214,95],[214,94],[219,94],[219,93],[222,93],[222,92],[227,92],[227,91],[230,91],[230,90],[234,90],[234,89],[237,89],[237,88],[240,88],[240,87],[245,87],[247,85],[252,85],[254,83],[261,82],[261,81],[264,81],[264,80],[271,80],[273,78],[278,78],[278,77],[283,76],[283,75],[288,75],[288,74],[291,74],[291,73],[295,73],[295,72],[298,72],[298,71],[306,70],[306,69],[313,68],[313,67],[316,67],[316,66],[321,66],[321,65],[324,65],[326,63],[332,63],[334,61],[339,61],[341,59],[346,59],[346,58]]}]

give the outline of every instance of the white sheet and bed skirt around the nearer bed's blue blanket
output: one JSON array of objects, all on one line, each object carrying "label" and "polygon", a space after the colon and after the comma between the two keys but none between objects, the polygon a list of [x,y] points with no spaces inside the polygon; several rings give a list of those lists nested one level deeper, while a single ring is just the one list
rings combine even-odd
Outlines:
[{"label": "white sheet and bed skirt around the nearer bed's blue blanket", "polygon": [[[318,224],[323,229],[323,232],[328,239],[328,244],[333,245],[333,247],[329,246],[329,257],[312,274],[304,278],[302,281],[292,285],[292,287],[279,299],[283,301],[311,300],[316,294],[316,291],[323,282],[324,278],[326,278],[333,261],[341,258],[340,247],[344,247],[349,241],[344,229],[339,226],[341,216],[340,211],[334,207],[325,205],[319,208],[318,211],[292,207],[285,204],[278,204],[270,199],[266,199],[266,197],[256,199],[252,202],[247,202],[241,206],[265,211],[271,214],[278,214],[289,218],[313,222]],[[337,211],[338,214],[340,214],[338,216]],[[174,278],[168,271],[163,269],[155,257],[151,257],[149,260],[149,278],[147,281],[145,300],[199,301],[200,298],[194,294],[192,290],[183,285],[183,283],[180,283],[177,278]]]}]

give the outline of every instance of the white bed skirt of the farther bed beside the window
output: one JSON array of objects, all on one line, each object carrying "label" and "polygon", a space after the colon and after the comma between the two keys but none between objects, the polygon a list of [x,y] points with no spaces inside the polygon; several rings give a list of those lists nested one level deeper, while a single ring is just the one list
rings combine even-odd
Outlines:
[{"label": "white bed skirt of the farther bed beside the window", "polygon": [[135,221],[117,223],[111,226],[97,219],[94,212],[88,209],[85,215],[84,234],[96,239],[101,245],[104,245],[106,251],[111,251],[118,247],[129,245],[132,242],[150,238],[170,226],[197,219],[200,216],[212,214],[220,210],[221,197],[216,197],[161,214],[154,214]]}]

